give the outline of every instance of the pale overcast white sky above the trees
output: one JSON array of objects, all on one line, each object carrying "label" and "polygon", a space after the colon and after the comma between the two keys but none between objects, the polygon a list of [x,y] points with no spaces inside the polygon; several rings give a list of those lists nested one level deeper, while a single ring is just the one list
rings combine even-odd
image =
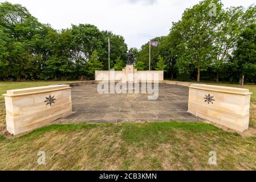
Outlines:
[{"label": "pale overcast white sky above the trees", "polygon": [[[0,2],[5,2],[6,0]],[[71,24],[94,24],[122,35],[128,48],[168,35],[172,22],[200,0],[8,0],[25,6],[42,23],[56,30]],[[256,0],[222,0],[225,7],[248,7]]]}]

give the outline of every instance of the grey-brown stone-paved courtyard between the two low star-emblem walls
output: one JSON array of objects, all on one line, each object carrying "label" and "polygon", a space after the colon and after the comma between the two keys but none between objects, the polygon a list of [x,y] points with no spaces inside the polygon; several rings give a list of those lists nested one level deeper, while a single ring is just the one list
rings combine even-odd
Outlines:
[{"label": "grey-brown stone-paved courtyard between the two low star-emblem walls", "polygon": [[152,94],[100,94],[97,84],[74,86],[74,113],[62,122],[201,121],[186,112],[187,87],[159,84],[157,100],[148,100],[149,95]]}]

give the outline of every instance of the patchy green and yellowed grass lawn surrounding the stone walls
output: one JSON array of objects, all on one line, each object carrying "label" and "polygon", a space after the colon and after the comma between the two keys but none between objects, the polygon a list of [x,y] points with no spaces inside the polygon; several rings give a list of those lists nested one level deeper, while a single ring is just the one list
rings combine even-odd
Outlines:
[{"label": "patchy green and yellowed grass lawn surrounding the stone walls", "polygon": [[[55,83],[0,82],[0,94]],[[244,88],[254,92],[251,104],[255,106],[256,86]],[[242,137],[207,123],[55,124],[5,138],[4,107],[0,96],[2,170],[256,170],[256,137]],[[251,115],[250,127],[255,127],[255,110]],[[46,165],[37,164],[38,151],[46,152]],[[217,152],[217,166],[208,164],[210,151]]]}]

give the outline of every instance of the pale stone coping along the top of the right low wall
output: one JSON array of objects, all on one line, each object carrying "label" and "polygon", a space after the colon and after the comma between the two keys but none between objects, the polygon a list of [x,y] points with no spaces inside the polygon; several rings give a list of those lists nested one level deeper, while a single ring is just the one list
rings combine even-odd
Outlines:
[{"label": "pale stone coping along the top of the right low wall", "polygon": [[189,88],[199,89],[199,90],[208,90],[212,92],[222,92],[230,94],[239,94],[239,95],[250,95],[249,89],[234,88],[229,86],[218,86],[218,85],[205,85],[205,84],[192,84]]}]

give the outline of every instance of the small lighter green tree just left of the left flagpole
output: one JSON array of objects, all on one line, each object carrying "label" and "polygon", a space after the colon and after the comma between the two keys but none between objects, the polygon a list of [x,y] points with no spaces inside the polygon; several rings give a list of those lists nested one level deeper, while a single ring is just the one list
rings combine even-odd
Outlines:
[{"label": "small lighter green tree just left of the left flagpole", "polygon": [[90,59],[87,63],[88,75],[93,78],[95,76],[95,70],[102,70],[103,64],[99,61],[99,54],[97,51],[92,52]]}]

